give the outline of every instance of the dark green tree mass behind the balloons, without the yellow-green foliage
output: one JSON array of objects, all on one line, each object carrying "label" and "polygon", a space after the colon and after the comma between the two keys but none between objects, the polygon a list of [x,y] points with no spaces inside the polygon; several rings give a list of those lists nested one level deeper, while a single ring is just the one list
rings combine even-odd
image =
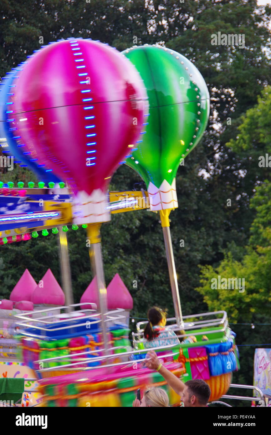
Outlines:
[{"label": "dark green tree mass behind the balloons, without the yellow-green foliage", "polygon": [[[261,47],[264,44],[268,49],[270,44],[271,13],[269,7],[258,7],[255,13],[256,7],[256,1],[244,0],[234,3],[228,0],[184,3],[24,0],[20,5],[9,0],[1,4],[1,74],[25,60],[42,44],[74,36],[98,39],[119,50],[135,43],[166,43],[191,59],[204,75],[211,95],[211,120],[201,144],[178,171],[179,208],[171,212],[172,243],[185,314],[206,309],[194,290],[199,285],[198,264],[216,264],[223,258],[228,243],[235,241],[244,246],[253,220],[249,198],[254,194],[254,180],[245,183],[247,178],[240,173],[246,171],[248,157],[224,145],[236,136],[240,114],[255,104],[257,93],[270,80],[270,61]],[[211,36],[218,31],[245,33],[245,48],[211,45]],[[229,125],[228,117],[231,117]],[[16,171],[14,178],[19,180],[23,174],[15,174]],[[32,178],[29,175],[25,180]],[[137,175],[123,166],[114,175],[110,189],[130,190],[137,182],[140,182]],[[231,207],[226,205],[229,198]],[[146,304],[152,301],[165,301],[173,314],[158,220],[155,214],[142,211],[132,216],[128,213],[113,216],[112,222],[102,227],[107,283],[116,271],[121,272],[134,296],[135,311],[143,316]],[[44,238],[43,243],[52,243],[52,238]],[[79,235],[69,233],[69,239],[70,255],[74,258],[74,291],[79,297],[91,279],[88,256],[86,253],[81,259]],[[182,239],[184,247],[180,246]],[[32,242],[21,242],[24,246],[29,243],[32,246]],[[84,237],[80,243],[85,246]],[[57,246],[55,242],[54,246]],[[5,264],[11,248],[9,245],[3,249]],[[12,267],[10,261],[11,258],[8,262]],[[132,287],[135,280],[137,289]]]}]

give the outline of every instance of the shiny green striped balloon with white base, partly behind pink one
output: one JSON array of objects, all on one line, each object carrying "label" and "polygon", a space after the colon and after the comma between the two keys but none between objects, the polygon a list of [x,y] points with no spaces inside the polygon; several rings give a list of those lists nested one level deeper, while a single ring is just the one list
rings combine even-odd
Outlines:
[{"label": "shiny green striped balloon with white base, partly behind pink one", "polygon": [[161,46],[122,52],[139,71],[149,98],[146,131],[126,164],[143,178],[151,209],[177,207],[175,177],[207,125],[210,97],[204,78],[186,57]]}]

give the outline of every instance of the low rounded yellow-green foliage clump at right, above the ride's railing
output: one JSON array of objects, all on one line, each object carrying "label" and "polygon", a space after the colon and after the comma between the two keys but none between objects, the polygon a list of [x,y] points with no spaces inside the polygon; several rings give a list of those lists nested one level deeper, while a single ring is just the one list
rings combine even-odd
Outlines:
[{"label": "low rounded yellow-green foliage clump at right, above the ride's railing", "polygon": [[[265,237],[271,241],[271,228],[265,230]],[[223,307],[231,321],[251,321],[255,312],[270,313],[271,253],[269,247],[248,249],[242,261],[235,261],[231,254],[225,257],[218,267],[203,266],[202,287],[197,290],[204,295],[209,310],[218,311]],[[218,276],[225,278],[226,288],[215,285]],[[239,278],[234,289],[229,279]],[[244,283],[244,286],[243,286]],[[238,286],[239,285],[239,286]],[[243,287],[242,287],[243,286]]]}]

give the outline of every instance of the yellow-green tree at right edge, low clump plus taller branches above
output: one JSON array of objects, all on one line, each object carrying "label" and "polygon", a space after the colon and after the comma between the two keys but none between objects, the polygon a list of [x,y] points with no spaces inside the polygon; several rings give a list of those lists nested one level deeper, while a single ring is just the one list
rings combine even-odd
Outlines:
[{"label": "yellow-green tree at right edge, low clump plus taller branches above", "polygon": [[[229,246],[224,259],[217,266],[201,267],[202,287],[197,290],[204,295],[204,301],[211,311],[220,306],[228,312],[232,321],[251,321],[254,313],[268,315],[271,303],[271,182],[256,187],[251,198],[251,208],[256,210],[251,225],[250,244],[237,249]],[[235,250],[234,250],[235,248]],[[244,291],[239,288],[217,288],[213,279],[244,278]],[[240,281],[240,285],[241,285]]]}]

